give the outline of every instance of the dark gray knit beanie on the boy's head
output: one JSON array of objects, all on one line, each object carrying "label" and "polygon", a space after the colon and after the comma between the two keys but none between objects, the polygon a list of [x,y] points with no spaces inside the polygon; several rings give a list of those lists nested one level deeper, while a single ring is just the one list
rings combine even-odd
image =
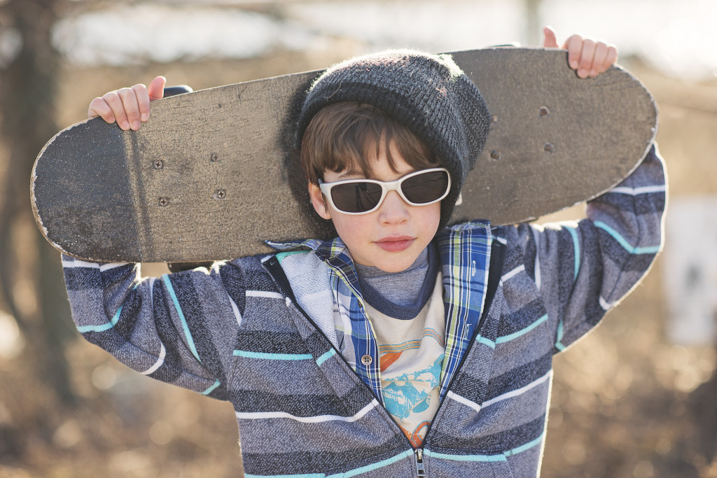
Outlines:
[{"label": "dark gray knit beanie on the boy's head", "polygon": [[298,143],[311,118],[332,103],[358,101],[383,110],[417,135],[450,171],[439,230],[450,220],[468,171],[480,155],[490,113],[473,82],[449,54],[389,50],[338,63],[310,87],[298,122]]}]

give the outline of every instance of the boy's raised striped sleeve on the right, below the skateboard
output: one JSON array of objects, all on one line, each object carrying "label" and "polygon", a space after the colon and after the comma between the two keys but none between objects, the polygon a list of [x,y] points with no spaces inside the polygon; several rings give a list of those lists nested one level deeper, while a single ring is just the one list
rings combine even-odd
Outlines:
[{"label": "boy's raised striped sleeve on the right, below the skateboard", "polygon": [[664,164],[652,146],[622,183],[589,201],[587,219],[518,226],[556,351],[597,325],[650,269],[663,246],[665,202]]}]

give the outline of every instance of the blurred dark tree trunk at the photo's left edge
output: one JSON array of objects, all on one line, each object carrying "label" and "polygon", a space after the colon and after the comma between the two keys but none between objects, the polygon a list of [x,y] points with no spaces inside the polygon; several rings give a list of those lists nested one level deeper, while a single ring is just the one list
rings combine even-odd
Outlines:
[{"label": "blurred dark tree trunk at the photo's left edge", "polygon": [[[70,312],[59,254],[37,229],[34,244],[16,244],[13,240],[14,227],[32,221],[28,186],[34,158],[58,130],[54,100],[60,59],[52,47],[51,33],[57,8],[64,2],[0,2],[2,26],[14,29],[22,40],[17,54],[0,70],[0,134],[9,161],[0,209],[0,282],[9,312],[24,333],[28,362],[62,403],[72,404],[75,395],[68,379],[65,341],[75,335],[68,333]],[[21,248],[34,249],[34,258],[28,260],[33,255],[23,253],[19,259]],[[30,306],[16,300],[14,285],[21,271],[31,279],[37,307],[32,307],[32,299]]]}]

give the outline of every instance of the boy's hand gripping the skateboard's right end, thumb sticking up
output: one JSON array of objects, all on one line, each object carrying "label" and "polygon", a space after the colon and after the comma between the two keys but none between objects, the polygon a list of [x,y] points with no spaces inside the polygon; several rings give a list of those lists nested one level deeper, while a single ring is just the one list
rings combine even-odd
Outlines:
[{"label": "boy's hand gripping the skateboard's right end, thumb sticking up", "polygon": [[562,47],[558,47],[555,32],[551,27],[543,28],[543,47],[562,48],[568,50],[568,64],[577,70],[578,77],[597,77],[617,62],[617,48],[613,44],[596,42],[580,35],[566,39]]}]

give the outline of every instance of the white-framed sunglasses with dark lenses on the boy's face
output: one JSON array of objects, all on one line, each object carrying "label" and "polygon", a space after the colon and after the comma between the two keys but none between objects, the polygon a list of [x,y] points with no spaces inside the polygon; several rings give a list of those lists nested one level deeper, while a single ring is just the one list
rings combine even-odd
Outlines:
[{"label": "white-framed sunglasses with dark lenses on the boy's face", "polygon": [[422,169],[396,181],[346,179],[324,183],[319,188],[333,209],[343,214],[369,214],[384,202],[389,191],[396,191],[412,206],[427,206],[445,198],[450,191],[450,173],[446,168]]}]

